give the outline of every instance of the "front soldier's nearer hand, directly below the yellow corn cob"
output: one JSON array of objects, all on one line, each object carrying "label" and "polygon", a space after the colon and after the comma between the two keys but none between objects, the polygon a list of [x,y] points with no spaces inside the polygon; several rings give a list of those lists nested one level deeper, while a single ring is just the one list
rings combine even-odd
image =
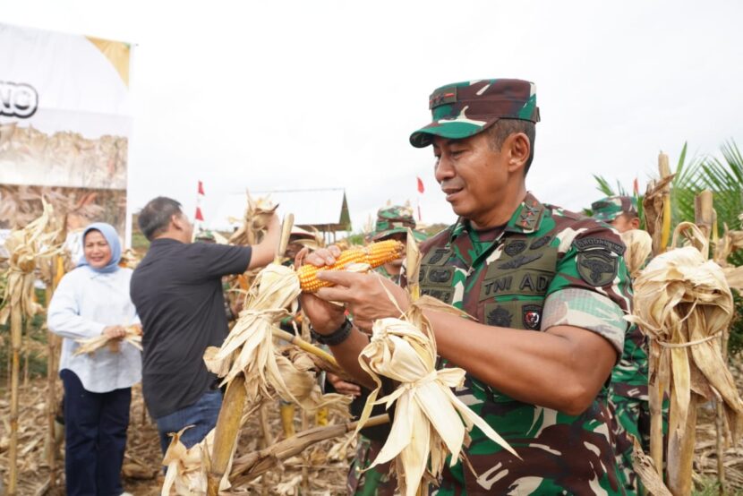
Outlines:
[{"label": "front soldier's nearer hand, directly below the yellow corn cob", "polygon": [[319,272],[318,278],[336,286],[321,287],[315,295],[327,302],[345,304],[358,329],[371,330],[372,322],[377,319],[399,318],[410,306],[410,296],[405,289],[375,272],[326,270]]}]

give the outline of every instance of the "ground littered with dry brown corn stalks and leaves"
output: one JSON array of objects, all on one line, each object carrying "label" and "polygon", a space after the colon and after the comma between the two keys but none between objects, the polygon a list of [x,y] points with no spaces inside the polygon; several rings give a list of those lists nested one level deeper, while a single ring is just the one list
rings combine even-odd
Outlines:
[{"label": "ground littered with dry brown corn stalks and leaves", "polygon": [[[738,388],[743,388],[743,363],[739,360],[730,367]],[[0,399],[0,479],[7,476],[8,449],[8,410],[6,378],[3,378],[2,399]],[[61,386],[60,386],[61,390]],[[47,488],[49,470],[45,462],[44,439],[47,432],[46,419],[46,381],[31,381],[28,387],[21,389],[21,425],[20,447],[21,471],[19,494],[38,494]],[[124,489],[137,496],[155,496],[160,494],[164,477],[158,472],[161,453],[158,444],[158,431],[149,416],[142,415],[143,401],[141,387],[132,389],[132,408],[126,454],[124,456]],[[699,406],[699,423],[696,427],[696,453],[694,460],[695,489],[698,492],[711,491],[717,474],[717,457],[715,453],[715,431],[713,407],[705,404]],[[330,423],[344,422],[339,416],[330,417]],[[299,428],[301,420],[297,413],[295,424]],[[278,403],[269,408],[269,425],[274,435],[281,433],[281,422],[278,416]],[[312,425],[312,422],[311,422]],[[237,449],[241,456],[259,449],[260,419],[254,415],[246,424]],[[335,440],[322,441],[310,449],[304,456],[286,459],[283,464],[266,475],[244,485],[236,487],[235,494],[262,494],[264,487],[268,494],[299,494],[302,488],[303,468],[308,469],[310,482],[309,492],[304,494],[340,495],[346,494],[346,470],[353,456],[354,444],[344,449],[344,442],[352,436],[338,437]],[[280,440],[280,439],[279,439]],[[64,450],[64,446],[63,446]],[[725,450],[726,475],[730,483],[730,494],[743,494],[743,442]],[[47,494],[64,494],[64,458],[57,457],[56,489]],[[711,493],[711,492],[708,492]]]}]

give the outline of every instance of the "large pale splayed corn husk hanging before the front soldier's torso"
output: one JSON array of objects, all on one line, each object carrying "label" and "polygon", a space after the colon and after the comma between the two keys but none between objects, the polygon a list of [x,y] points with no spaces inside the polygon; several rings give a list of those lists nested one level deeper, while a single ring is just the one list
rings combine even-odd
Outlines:
[{"label": "large pale splayed corn husk hanging before the front soldier's torso", "polygon": [[[436,302],[436,303],[433,303]],[[445,306],[423,296],[412,305],[413,320],[422,320],[426,304],[441,310]],[[453,307],[449,312],[461,313]],[[425,330],[422,330],[422,329]],[[380,319],[372,326],[372,341],[359,356],[359,363],[377,384],[367,400],[359,421],[358,433],[369,418],[372,406],[397,401],[392,429],[372,466],[396,460],[400,491],[412,496],[424,479],[437,478],[451,453],[451,464],[460,457],[462,445],[468,442],[467,432],[473,426],[517,456],[508,442],[493,431],[452,392],[462,386],[465,371],[460,368],[436,370],[436,344],[430,328],[412,321]],[[399,381],[400,386],[389,396],[377,400],[381,388],[380,375]],[[427,467],[430,467],[430,474]]]}]

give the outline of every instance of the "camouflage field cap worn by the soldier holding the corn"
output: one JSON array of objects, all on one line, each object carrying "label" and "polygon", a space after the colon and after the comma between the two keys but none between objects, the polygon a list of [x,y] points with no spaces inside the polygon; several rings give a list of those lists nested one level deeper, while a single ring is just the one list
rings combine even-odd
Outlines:
[{"label": "camouflage field cap worn by the soldier holding the corn", "polygon": [[433,136],[461,139],[480,133],[498,119],[539,122],[536,87],[518,79],[457,82],[429,97],[431,124],[410,135],[410,144],[423,148]]}]

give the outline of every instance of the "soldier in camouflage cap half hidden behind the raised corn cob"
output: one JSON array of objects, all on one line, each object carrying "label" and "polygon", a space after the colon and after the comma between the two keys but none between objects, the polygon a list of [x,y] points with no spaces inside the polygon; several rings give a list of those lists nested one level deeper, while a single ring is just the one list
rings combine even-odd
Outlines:
[{"label": "soldier in camouflage cap half hidden behind the raised corn cob", "polygon": [[[384,241],[386,239],[396,239],[405,243],[407,229],[410,228],[415,233],[415,218],[413,210],[403,205],[392,205],[382,207],[377,211],[377,224],[372,233],[372,241]],[[389,261],[376,269],[385,278],[393,281],[395,284],[400,283],[400,274],[402,272],[404,256],[395,261]],[[329,380],[333,387],[337,388],[340,378],[329,374]],[[358,389],[361,392],[361,389]],[[356,396],[351,404],[351,414],[358,418],[369,396],[369,390],[364,389],[364,394]],[[375,415],[384,413],[383,407],[378,407]],[[380,464],[369,468],[377,455],[380,454],[382,446],[389,434],[389,426],[380,426],[380,428],[363,429],[360,433],[356,444],[356,456],[351,462],[351,469],[348,472],[346,489],[348,494],[357,496],[392,496],[397,489],[397,478],[389,474],[391,462]]]}]

